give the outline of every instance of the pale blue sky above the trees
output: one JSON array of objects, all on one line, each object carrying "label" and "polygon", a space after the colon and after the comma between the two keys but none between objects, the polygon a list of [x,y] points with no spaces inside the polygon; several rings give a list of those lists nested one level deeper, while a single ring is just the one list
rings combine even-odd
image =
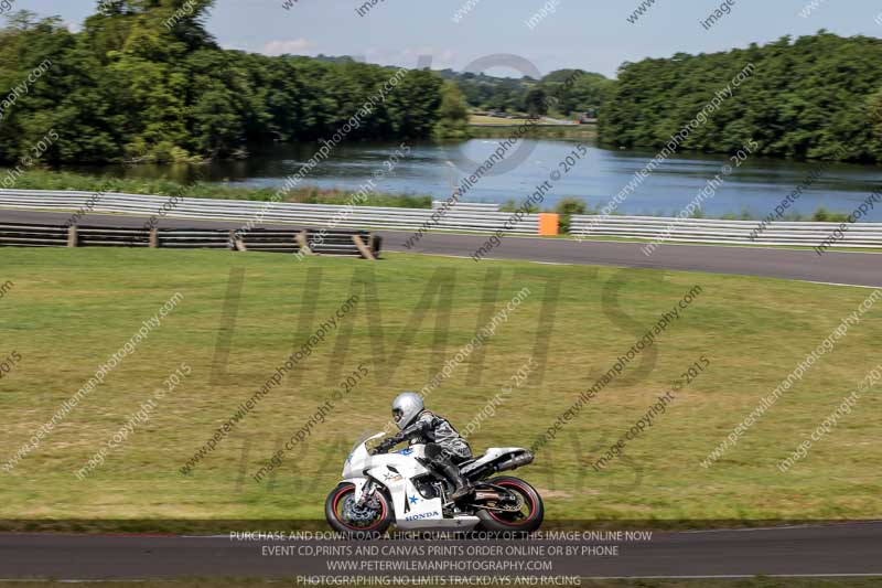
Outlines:
[{"label": "pale blue sky above the trees", "polygon": [[[719,0],[655,0],[633,24],[627,17],[642,0],[378,0],[364,17],[356,8],[365,0],[297,0],[290,10],[283,1],[217,0],[208,29],[225,47],[267,54],[361,55],[408,67],[431,55],[435,68],[463,70],[480,57],[510,53],[542,74],[581,67],[607,76],[625,61],[714,52],[819,29],[882,36],[875,22],[882,0],[729,0],[731,12],[710,30],[700,21],[720,7]],[[57,14],[73,28],[96,3],[15,0],[17,8]],[[456,11],[470,6],[454,22]],[[540,18],[544,7],[553,13]],[[802,15],[804,10],[809,13]],[[526,21],[534,17],[530,29]],[[502,68],[490,73],[518,75]]]}]

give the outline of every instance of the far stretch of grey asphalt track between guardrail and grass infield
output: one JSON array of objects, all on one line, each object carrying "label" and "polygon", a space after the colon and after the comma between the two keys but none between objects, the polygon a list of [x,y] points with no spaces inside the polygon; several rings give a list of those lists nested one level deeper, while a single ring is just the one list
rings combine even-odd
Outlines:
[{"label": "far stretch of grey asphalt track between guardrail and grass infield", "polygon": [[[15,223],[63,224],[69,213],[0,210],[0,221]],[[146,217],[89,214],[84,225],[143,226]],[[240,222],[190,221],[162,218],[160,227],[238,228]],[[290,228],[291,225],[259,225]],[[378,231],[384,236],[384,249],[471,257],[487,239],[485,235],[423,235],[412,249],[405,242],[412,234]],[[765,278],[785,278],[854,286],[882,287],[882,254],[832,253],[818,256],[814,250],[773,249],[759,247],[721,247],[700,245],[663,245],[650,256],[641,252],[639,243],[582,242],[505,237],[502,245],[487,256],[493,259],[526,259],[552,264],[585,264],[615,267],[708,271]]]}]

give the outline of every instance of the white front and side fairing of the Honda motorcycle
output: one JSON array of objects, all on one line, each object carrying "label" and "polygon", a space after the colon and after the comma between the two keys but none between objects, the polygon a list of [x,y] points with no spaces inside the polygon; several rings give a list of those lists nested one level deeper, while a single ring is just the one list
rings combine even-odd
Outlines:
[{"label": "white front and side fairing of the Honda motorcycle", "polygon": [[440,498],[423,498],[412,483],[429,472],[417,458],[426,457],[426,446],[411,445],[394,453],[372,456],[366,443],[384,437],[377,434],[357,446],[343,467],[343,479],[355,484],[355,500],[362,496],[365,483],[374,479],[389,490],[396,525],[400,530],[456,528],[467,531],[478,523],[476,516],[456,515],[444,518]]}]

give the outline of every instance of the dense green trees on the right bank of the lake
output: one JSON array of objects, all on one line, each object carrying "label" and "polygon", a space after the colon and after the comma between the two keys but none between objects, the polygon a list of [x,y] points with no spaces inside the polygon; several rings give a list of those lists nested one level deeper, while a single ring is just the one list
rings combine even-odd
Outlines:
[{"label": "dense green trees on the right bank of the lake", "polygon": [[882,159],[882,40],[826,31],[729,52],[625,63],[601,109],[612,147],[665,146],[747,64],[751,78],[680,149],[874,162]]}]

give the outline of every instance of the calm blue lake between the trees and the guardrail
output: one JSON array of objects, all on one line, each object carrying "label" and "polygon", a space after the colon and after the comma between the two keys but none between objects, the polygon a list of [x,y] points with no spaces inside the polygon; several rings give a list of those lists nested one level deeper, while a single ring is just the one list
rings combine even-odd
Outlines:
[{"label": "calm blue lake between the trees and the guardrail", "polygon": [[[503,163],[494,168],[495,175],[485,175],[469,190],[463,201],[523,201],[536,185],[559,168],[578,141],[534,140],[524,142],[523,162],[513,164],[514,149]],[[386,169],[385,161],[399,143],[359,142],[337,147],[327,160],[304,180],[320,188],[356,189],[375,171]],[[472,139],[459,142],[417,142],[407,158],[378,183],[377,190],[398,194],[431,194],[435,199],[451,193],[453,172],[445,163],[455,164],[460,180],[471,175],[499,146],[497,139]],[[277,186],[315,152],[315,145],[277,145],[254,151],[244,161],[219,161],[207,165],[206,178],[240,186]],[[561,197],[579,196],[592,206],[602,205],[624,188],[634,173],[653,158],[654,151],[615,151],[585,143],[584,157],[555,183],[544,207],[552,207]],[[657,168],[620,206],[624,214],[670,216],[679,213],[702,190],[707,181],[721,172],[729,158],[722,154],[678,154]],[[570,165],[568,165],[570,167]],[[505,170],[504,168],[510,168]],[[727,213],[750,212],[755,217],[768,214],[778,202],[793,192],[818,168],[817,162],[796,162],[750,157],[725,178],[724,184],[703,203],[703,215],[718,217]],[[66,168],[90,173],[110,172],[131,178],[170,177],[186,181],[194,169],[187,165],[139,165],[130,170],[111,168]],[[830,164],[810,189],[804,191],[790,210],[811,214],[819,206],[828,211],[853,211],[879,186],[879,168],[859,164]],[[882,206],[869,215],[882,222]]]}]

